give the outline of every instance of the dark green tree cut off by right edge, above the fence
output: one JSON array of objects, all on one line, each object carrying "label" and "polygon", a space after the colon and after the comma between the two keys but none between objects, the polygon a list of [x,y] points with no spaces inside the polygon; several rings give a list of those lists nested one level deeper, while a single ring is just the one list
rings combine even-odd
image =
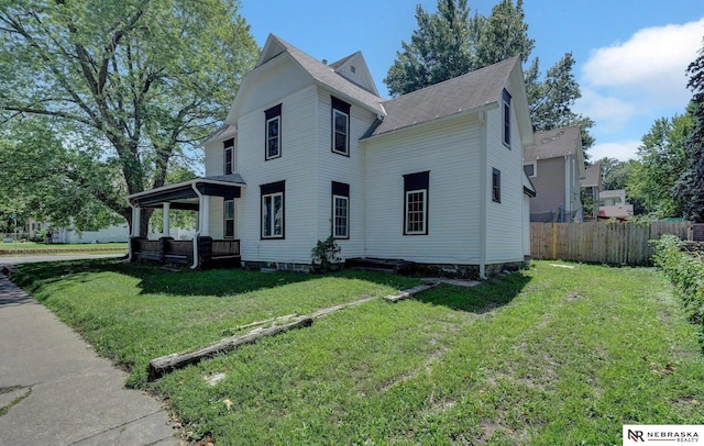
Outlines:
[{"label": "dark green tree cut off by right edge, above the fence", "polygon": [[673,188],[673,193],[684,202],[684,215],[704,223],[704,45],[698,57],[688,67],[688,87],[694,92],[690,113],[694,119],[686,140],[690,164]]}]

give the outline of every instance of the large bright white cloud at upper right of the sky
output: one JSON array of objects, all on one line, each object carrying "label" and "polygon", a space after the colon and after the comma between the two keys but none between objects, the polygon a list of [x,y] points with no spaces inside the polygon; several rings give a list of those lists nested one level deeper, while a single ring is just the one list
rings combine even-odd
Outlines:
[{"label": "large bright white cloud at upper right of the sky", "polygon": [[628,41],[592,52],[583,67],[592,88],[626,90],[662,105],[682,105],[691,98],[686,89],[688,65],[702,47],[704,18],[638,31]]}]

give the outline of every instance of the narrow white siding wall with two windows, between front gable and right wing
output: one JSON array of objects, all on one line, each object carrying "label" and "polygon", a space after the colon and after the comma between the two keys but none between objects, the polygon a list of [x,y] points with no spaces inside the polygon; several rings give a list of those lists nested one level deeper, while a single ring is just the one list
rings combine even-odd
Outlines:
[{"label": "narrow white siding wall with two windows, between front gable and right wing", "polygon": [[331,232],[332,181],[350,185],[350,238],[338,239],[344,258],[364,255],[364,152],[360,138],[374,123],[376,116],[360,107],[350,109],[350,156],[332,152],[332,103],[330,92],[318,91],[318,149],[317,238],[324,239]]}]

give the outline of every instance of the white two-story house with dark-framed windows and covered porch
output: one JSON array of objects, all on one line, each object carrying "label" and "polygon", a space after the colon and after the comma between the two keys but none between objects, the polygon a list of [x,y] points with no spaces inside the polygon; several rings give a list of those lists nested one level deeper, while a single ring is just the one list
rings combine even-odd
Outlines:
[{"label": "white two-story house with dark-framed windows and covered porch", "polygon": [[[140,207],[199,210],[208,254],[174,245],[193,267],[212,254],[308,270],[332,235],[343,259],[484,277],[530,254],[532,143],[517,57],[385,100],[361,53],[327,65],[270,35],[204,143],[206,176],[129,200],[138,219]],[[140,258],[155,245],[132,246]]]}]

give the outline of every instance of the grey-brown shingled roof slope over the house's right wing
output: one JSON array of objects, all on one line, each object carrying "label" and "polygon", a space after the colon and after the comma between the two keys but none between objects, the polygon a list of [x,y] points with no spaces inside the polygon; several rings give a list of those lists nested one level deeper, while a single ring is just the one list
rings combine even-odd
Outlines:
[{"label": "grey-brown shingled roof slope over the house's right wing", "polygon": [[512,57],[384,102],[387,115],[370,136],[498,101],[517,60],[518,57]]}]

